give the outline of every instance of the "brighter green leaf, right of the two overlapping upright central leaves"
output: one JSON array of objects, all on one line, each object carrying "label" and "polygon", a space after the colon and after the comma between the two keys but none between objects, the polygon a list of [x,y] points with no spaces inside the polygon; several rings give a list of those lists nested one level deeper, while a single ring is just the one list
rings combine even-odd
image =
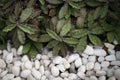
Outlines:
[{"label": "brighter green leaf, right of the two overlapping upright central leaves", "polygon": [[60,36],[65,36],[69,31],[70,29],[72,28],[71,26],[71,21],[69,20],[63,27],[62,27],[62,30],[60,32]]}]

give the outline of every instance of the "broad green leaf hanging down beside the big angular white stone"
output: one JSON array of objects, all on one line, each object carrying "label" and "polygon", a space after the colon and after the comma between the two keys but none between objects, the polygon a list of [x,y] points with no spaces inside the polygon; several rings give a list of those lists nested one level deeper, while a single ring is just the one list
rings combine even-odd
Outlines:
[{"label": "broad green leaf hanging down beside the big angular white stone", "polygon": [[86,37],[82,37],[79,40],[79,43],[77,44],[77,52],[83,51],[86,48],[87,45],[87,38]]}]

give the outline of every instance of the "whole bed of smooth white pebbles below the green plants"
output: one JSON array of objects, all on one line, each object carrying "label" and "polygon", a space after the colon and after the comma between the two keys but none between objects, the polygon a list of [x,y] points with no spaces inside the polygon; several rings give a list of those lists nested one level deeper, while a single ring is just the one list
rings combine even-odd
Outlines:
[{"label": "whole bed of smooth white pebbles below the green plants", "polygon": [[46,48],[29,59],[18,49],[0,50],[0,80],[120,80],[120,51],[105,43],[101,47],[87,45],[83,53],[66,57],[52,56]]}]

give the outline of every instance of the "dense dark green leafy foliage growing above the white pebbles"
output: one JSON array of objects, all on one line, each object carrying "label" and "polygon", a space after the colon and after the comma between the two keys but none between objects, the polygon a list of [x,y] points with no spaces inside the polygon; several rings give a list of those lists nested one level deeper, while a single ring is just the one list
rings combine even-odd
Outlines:
[{"label": "dense dark green leafy foliage growing above the white pebbles", "polygon": [[[14,46],[23,44],[23,53],[31,56],[42,47],[65,56],[68,49],[80,52],[88,43],[102,46],[104,41],[114,39],[120,43],[119,4],[119,0],[0,2],[0,22],[5,23],[1,32]],[[0,42],[4,35],[0,35]]]}]

